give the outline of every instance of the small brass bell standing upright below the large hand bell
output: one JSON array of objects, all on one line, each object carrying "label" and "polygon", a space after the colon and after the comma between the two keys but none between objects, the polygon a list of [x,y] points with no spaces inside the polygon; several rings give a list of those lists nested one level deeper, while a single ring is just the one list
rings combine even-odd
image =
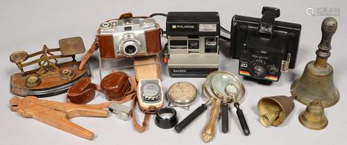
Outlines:
[{"label": "small brass bell standing upright below the large hand bell", "polygon": [[306,110],[299,115],[299,122],[306,128],[321,130],[328,126],[321,100],[314,99]]}]

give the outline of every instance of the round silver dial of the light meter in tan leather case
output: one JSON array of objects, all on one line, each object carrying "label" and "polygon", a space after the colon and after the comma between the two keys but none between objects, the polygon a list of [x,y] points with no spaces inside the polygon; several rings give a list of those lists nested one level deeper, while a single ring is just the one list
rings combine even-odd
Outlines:
[{"label": "round silver dial of the light meter in tan leather case", "polygon": [[142,86],[141,92],[145,100],[155,101],[159,97],[160,86],[154,82],[150,82]]}]

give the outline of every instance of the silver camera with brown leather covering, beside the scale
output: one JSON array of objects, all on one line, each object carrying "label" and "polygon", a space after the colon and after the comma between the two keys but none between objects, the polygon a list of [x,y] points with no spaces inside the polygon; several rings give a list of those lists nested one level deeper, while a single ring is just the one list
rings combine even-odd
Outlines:
[{"label": "silver camera with brown leather covering, beside the scale", "polygon": [[162,48],[158,23],[131,13],[101,23],[96,37],[105,59],[156,55]]}]

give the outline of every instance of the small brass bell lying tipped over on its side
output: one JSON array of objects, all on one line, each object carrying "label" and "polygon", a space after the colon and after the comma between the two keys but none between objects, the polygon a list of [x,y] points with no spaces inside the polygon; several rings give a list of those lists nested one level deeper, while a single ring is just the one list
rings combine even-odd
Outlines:
[{"label": "small brass bell lying tipped over on its side", "polygon": [[294,109],[294,97],[263,97],[258,101],[260,123],[265,126],[279,126]]}]

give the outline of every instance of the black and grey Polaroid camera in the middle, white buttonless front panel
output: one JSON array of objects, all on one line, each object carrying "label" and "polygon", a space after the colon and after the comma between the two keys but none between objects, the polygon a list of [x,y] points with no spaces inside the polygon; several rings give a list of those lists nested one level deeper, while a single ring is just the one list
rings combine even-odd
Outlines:
[{"label": "black and grey Polaroid camera in the middle, white buttonless front panel", "polygon": [[206,77],[219,67],[218,12],[169,12],[164,63],[171,77]]}]

